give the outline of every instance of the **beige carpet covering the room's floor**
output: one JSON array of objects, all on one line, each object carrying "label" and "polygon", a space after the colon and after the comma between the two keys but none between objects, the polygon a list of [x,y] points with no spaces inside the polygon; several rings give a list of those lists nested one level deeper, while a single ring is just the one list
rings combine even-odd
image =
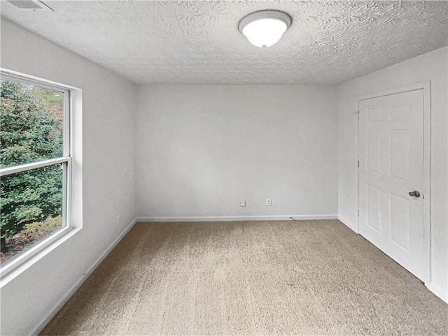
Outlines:
[{"label": "beige carpet covering the room's floor", "polygon": [[448,305],[339,221],[139,223],[41,335],[448,335]]}]

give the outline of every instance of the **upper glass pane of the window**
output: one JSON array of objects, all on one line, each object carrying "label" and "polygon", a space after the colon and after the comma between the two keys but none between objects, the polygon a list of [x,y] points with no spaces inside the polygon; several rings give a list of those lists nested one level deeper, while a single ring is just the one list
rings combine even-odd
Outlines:
[{"label": "upper glass pane of the window", "polygon": [[0,168],[62,156],[63,92],[1,80],[0,99]]}]

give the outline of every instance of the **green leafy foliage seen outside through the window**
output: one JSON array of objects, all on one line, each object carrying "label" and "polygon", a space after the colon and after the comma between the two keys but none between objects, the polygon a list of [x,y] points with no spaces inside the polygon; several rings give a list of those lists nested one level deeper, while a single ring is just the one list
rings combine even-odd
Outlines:
[{"label": "green leafy foliage seen outside through the window", "polygon": [[[0,82],[0,167],[62,156],[63,95],[17,82]],[[62,212],[62,165],[1,177],[1,250],[25,225]]]}]

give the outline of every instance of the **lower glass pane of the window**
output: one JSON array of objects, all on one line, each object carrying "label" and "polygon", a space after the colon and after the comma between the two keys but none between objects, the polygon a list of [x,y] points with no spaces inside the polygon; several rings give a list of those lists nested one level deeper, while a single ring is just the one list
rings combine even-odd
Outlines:
[{"label": "lower glass pane of the window", "polygon": [[59,163],[0,178],[2,265],[64,226],[65,166]]}]

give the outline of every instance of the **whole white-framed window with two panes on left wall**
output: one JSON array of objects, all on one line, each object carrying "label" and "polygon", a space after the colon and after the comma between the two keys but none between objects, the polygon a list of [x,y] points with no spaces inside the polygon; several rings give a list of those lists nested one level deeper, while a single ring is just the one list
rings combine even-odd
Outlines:
[{"label": "whole white-framed window with two panes on left wall", "polygon": [[71,89],[0,74],[3,271],[71,228]]}]

